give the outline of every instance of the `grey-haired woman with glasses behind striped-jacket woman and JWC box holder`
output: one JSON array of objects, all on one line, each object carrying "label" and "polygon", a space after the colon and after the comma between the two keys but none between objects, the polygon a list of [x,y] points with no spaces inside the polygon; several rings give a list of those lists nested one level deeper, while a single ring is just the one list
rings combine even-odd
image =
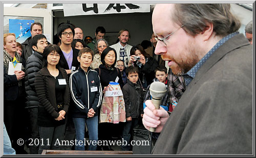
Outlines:
[{"label": "grey-haired woman with glasses behind striped-jacket woman and JWC box holder", "polygon": [[91,64],[92,69],[99,68],[99,65],[101,63],[100,56],[102,54],[102,51],[106,48],[109,47],[109,43],[105,39],[99,39],[97,43],[95,44],[95,55],[93,57],[93,62]]}]

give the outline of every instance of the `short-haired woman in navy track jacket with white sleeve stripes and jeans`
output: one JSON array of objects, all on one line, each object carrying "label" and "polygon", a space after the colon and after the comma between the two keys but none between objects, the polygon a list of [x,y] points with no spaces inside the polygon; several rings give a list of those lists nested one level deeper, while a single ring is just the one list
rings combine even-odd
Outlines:
[{"label": "short-haired woman in navy track jacket with white sleeve stripes and jeans", "polygon": [[88,145],[84,141],[86,124],[91,141],[88,149],[97,149],[97,115],[102,99],[102,91],[98,72],[90,68],[93,56],[94,52],[90,48],[81,49],[77,57],[80,67],[70,76],[71,96],[75,102],[71,112],[76,129],[76,141],[83,142],[76,143],[75,150],[85,150],[85,145]]}]

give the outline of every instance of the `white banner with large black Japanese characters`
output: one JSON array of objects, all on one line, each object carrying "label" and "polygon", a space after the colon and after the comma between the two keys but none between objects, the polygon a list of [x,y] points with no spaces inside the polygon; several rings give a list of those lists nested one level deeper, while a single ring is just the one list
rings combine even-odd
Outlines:
[{"label": "white banner with large black Japanese characters", "polygon": [[63,4],[64,16],[150,12],[150,4]]}]

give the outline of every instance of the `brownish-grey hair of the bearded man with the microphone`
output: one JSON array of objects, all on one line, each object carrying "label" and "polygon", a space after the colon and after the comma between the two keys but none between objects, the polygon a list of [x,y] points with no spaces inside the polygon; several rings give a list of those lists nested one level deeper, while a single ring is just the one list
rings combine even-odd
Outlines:
[{"label": "brownish-grey hair of the bearded man with the microphone", "polygon": [[230,11],[230,4],[176,4],[172,20],[191,36],[203,32],[207,23],[213,24],[216,36],[225,37],[237,32],[240,20]]}]

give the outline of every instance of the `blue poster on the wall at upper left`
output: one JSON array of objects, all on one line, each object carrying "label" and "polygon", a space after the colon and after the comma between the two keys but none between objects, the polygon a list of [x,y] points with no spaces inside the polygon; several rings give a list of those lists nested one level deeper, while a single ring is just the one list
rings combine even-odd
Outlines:
[{"label": "blue poster on the wall at upper left", "polygon": [[31,36],[30,26],[35,20],[9,19],[9,33],[16,35],[16,41],[23,43]]}]

